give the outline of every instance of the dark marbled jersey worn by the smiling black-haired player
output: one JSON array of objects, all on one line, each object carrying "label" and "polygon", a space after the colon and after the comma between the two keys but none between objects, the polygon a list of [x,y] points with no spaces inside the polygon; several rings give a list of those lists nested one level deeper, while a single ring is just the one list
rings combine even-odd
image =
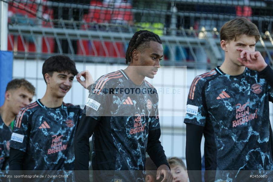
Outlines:
[{"label": "dark marbled jersey worn by the smiling black-haired player", "polygon": [[62,103],[45,107],[39,100],[17,115],[10,147],[26,152],[24,170],[74,170],[74,135],[82,110]]}]

